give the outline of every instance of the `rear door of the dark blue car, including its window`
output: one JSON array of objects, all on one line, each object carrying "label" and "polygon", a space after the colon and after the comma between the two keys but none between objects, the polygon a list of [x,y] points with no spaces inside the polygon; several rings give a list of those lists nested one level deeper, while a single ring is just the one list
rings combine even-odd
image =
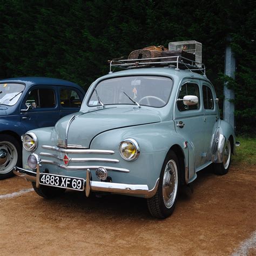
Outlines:
[{"label": "rear door of the dark blue car, including its window", "polygon": [[59,86],[58,90],[60,100],[60,117],[78,112],[83,102],[83,94],[72,87]]}]

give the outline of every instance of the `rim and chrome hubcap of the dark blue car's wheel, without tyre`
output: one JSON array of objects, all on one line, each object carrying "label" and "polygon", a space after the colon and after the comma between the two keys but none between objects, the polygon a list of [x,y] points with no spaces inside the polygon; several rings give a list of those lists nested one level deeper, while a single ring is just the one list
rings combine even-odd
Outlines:
[{"label": "rim and chrome hubcap of the dark blue car's wheel, without tyre", "polygon": [[0,174],[10,172],[16,165],[18,152],[11,142],[0,142]]}]

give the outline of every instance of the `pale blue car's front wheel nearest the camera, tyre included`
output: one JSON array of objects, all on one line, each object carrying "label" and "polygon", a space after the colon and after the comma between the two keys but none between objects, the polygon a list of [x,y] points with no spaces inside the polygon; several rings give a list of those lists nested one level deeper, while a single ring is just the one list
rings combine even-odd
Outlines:
[{"label": "pale blue car's front wheel nearest the camera, tyre included", "polygon": [[157,193],[147,199],[147,207],[153,217],[164,219],[172,214],[179,193],[179,162],[170,151],[160,173]]}]

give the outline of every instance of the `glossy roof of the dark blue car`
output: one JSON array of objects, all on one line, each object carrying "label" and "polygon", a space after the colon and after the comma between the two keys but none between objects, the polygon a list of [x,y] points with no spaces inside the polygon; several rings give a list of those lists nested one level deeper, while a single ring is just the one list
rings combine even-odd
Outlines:
[{"label": "glossy roof of the dark blue car", "polygon": [[51,78],[51,77],[15,77],[15,78],[7,78],[0,80],[0,83],[4,82],[14,82],[14,83],[24,83],[26,85],[34,85],[34,84],[45,84],[45,85],[64,85],[64,86],[74,86],[79,89],[81,87],[73,82],[68,80]]}]

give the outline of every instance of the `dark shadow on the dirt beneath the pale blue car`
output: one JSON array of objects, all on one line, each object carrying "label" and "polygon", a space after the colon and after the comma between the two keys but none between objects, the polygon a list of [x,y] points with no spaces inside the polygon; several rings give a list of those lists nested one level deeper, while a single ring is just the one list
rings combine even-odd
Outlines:
[{"label": "dark shadow on the dirt beneath the pale blue car", "polygon": [[[212,171],[212,166],[206,167],[204,170],[197,173],[197,179],[188,186],[181,186],[178,197],[178,205],[186,201],[193,200],[193,190],[197,190],[201,184],[207,179],[213,178],[215,175]],[[45,201],[46,203],[46,201]],[[152,219],[147,210],[147,201],[144,198],[122,196],[118,194],[97,194],[91,193],[89,198],[86,198],[85,192],[76,192],[68,190],[62,197],[47,200],[49,207],[53,207],[55,211],[57,207],[64,207],[66,210],[73,209],[81,214],[92,215],[122,215],[123,218],[143,218]]]}]

